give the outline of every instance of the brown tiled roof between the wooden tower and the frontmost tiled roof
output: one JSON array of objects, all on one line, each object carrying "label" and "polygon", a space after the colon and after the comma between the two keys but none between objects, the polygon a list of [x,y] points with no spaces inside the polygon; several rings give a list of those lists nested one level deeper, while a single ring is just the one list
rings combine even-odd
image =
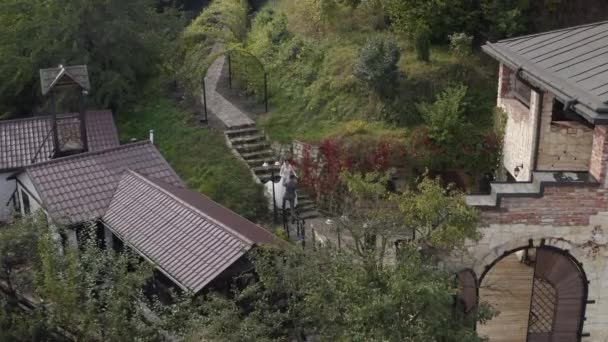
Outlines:
[{"label": "brown tiled roof between the wooden tower and the frontmost tiled roof", "polygon": [[34,164],[25,172],[51,217],[58,223],[70,224],[101,217],[127,169],[182,185],[149,141]]}]

